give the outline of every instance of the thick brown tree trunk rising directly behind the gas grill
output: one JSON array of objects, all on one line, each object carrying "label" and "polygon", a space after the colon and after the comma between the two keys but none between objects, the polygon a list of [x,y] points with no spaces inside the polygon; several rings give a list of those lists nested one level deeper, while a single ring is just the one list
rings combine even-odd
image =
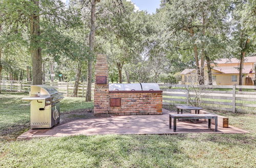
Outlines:
[{"label": "thick brown tree trunk rising directly behind the gas grill", "polygon": [[[39,0],[32,0],[39,9]],[[42,84],[42,56],[40,47],[39,10],[30,17],[30,53],[32,58],[32,85]]]}]

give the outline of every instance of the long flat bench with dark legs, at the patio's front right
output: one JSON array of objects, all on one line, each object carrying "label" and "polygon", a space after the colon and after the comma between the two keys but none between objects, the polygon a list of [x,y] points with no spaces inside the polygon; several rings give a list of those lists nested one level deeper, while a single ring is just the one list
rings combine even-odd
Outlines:
[{"label": "long flat bench with dark legs, at the patio's front right", "polygon": [[218,131],[218,116],[211,114],[172,114],[169,115],[169,129],[172,129],[172,118],[174,119],[174,132],[176,132],[177,119],[208,119],[208,128],[211,126],[211,119],[215,119],[215,131]]}]

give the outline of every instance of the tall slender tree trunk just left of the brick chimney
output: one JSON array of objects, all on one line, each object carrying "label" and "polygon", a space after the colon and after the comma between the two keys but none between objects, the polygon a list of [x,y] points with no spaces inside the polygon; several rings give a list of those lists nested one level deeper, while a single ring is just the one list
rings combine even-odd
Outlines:
[{"label": "tall slender tree trunk just left of the brick chimney", "polygon": [[91,31],[89,35],[89,46],[90,46],[90,56],[88,59],[88,77],[87,77],[87,91],[86,91],[86,101],[92,100],[92,64],[94,55],[94,42],[95,42],[95,11],[96,11],[96,0],[91,1]]}]

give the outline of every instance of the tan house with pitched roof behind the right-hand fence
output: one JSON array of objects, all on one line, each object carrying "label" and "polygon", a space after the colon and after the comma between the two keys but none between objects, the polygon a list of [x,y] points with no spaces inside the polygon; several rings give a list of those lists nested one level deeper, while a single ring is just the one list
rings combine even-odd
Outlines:
[{"label": "tan house with pitched roof behind the right-hand fence", "polygon": [[[243,85],[253,85],[255,75],[254,66],[256,57],[246,57],[243,69]],[[201,65],[200,65],[201,66]],[[239,84],[239,66],[238,59],[220,59],[215,64],[211,64],[212,85],[238,85]],[[185,69],[181,72],[182,84],[197,84],[196,69]],[[208,83],[208,73],[206,64],[204,65],[204,79]]]}]

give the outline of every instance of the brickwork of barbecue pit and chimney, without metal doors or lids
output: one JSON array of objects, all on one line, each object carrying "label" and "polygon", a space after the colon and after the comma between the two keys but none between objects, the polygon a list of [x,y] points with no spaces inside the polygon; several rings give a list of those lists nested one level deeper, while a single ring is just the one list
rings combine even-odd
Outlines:
[{"label": "brickwork of barbecue pit and chimney, without metal doors or lids", "polygon": [[[97,76],[106,76],[106,84],[97,84],[94,89],[94,114],[115,115],[161,115],[162,93],[109,93],[109,67],[106,55],[97,55]],[[110,98],[121,98],[120,107],[111,107]]]}]

